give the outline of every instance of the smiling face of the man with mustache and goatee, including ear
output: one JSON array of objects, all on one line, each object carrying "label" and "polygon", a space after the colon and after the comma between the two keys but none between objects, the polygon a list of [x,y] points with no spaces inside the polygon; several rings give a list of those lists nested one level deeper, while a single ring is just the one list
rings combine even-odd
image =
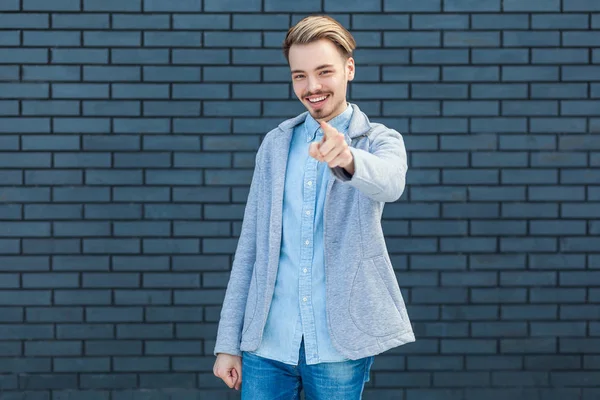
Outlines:
[{"label": "smiling face of the man with mustache and goatee, including ear", "polygon": [[292,45],[289,63],[296,97],[316,120],[328,121],[347,106],[348,81],[354,79],[354,60],[344,60],[335,44],[322,39]]}]

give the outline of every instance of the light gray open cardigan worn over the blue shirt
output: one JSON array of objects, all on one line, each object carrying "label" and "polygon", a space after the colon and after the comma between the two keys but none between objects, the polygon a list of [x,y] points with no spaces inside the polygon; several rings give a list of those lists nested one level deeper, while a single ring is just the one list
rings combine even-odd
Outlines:
[{"label": "light gray open cardigan worn over the blue shirt", "polygon": [[[372,123],[352,104],[346,141],[355,172],[330,169],[324,210],[327,322],[335,348],[349,359],[415,341],[386,248],[381,215],[400,198],[408,168],[402,136]],[[282,122],[256,154],[242,231],[221,310],[214,354],[241,355],[260,344],[275,287],[282,199],[294,126],[307,112]],[[318,307],[319,304],[315,304]]]}]

